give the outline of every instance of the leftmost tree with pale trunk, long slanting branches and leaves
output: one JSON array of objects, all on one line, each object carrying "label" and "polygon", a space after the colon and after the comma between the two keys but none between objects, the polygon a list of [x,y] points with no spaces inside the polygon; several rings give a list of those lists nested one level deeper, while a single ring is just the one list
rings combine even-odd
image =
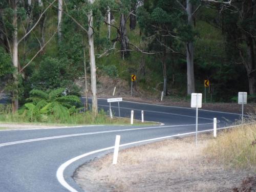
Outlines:
[{"label": "leftmost tree with pale trunk, long slanting branches and leaves", "polygon": [[[35,20],[35,22],[33,22],[34,18],[31,17],[32,11],[25,9],[24,1],[20,1],[20,0],[13,0],[13,1],[1,0],[0,1],[1,23],[3,24],[2,33],[5,35],[6,41],[8,42],[8,49],[9,49],[9,53],[11,54],[12,63],[14,66],[14,72],[13,72],[14,89],[12,92],[13,113],[15,113],[18,109],[18,75],[32,62],[32,60],[38,55],[38,53],[46,46],[45,44],[44,47],[41,47],[41,49],[30,59],[30,61],[26,63],[25,66],[21,67],[19,65],[19,58],[18,58],[18,45],[20,44],[20,42],[28,38],[31,32],[38,25],[42,16],[55,2],[56,0],[53,0],[49,6],[47,6],[46,8],[42,8],[38,18]],[[39,3],[39,6],[42,7],[42,4],[40,2],[38,3]],[[19,27],[24,29],[23,32],[20,32],[18,30]]]}]

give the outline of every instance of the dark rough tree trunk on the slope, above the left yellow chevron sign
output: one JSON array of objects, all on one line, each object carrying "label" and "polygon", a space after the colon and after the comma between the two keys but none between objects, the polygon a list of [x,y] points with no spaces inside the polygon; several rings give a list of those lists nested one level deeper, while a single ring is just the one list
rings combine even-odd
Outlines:
[{"label": "dark rough tree trunk on the slope, above the left yellow chevron sign", "polygon": [[126,30],[126,19],[124,14],[121,14],[120,17],[120,27],[119,27],[119,34],[120,34],[120,42],[121,42],[121,57],[129,56],[129,39],[127,37],[127,30]]}]

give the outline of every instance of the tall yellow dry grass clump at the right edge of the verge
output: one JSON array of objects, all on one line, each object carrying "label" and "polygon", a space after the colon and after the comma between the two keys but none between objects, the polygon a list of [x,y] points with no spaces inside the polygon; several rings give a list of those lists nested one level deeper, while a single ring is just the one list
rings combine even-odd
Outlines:
[{"label": "tall yellow dry grass clump at the right edge of the verge", "polygon": [[227,166],[256,172],[256,124],[222,132],[205,153]]}]

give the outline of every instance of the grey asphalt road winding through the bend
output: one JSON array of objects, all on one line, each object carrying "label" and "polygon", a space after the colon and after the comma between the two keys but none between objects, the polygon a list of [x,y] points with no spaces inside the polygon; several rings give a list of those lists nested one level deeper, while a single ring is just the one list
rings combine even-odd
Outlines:
[{"label": "grey asphalt road winding through the bend", "polygon": [[[98,100],[99,108],[109,109],[105,99]],[[117,103],[112,111],[118,115]],[[120,144],[182,134],[195,131],[195,109],[120,102],[122,117],[164,123],[161,126],[97,125],[63,129],[0,131],[0,192],[61,192],[69,191],[57,180],[58,167],[84,153],[113,146],[115,135],[121,135]],[[238,114],[199,111],[199,131],[212,129],[213,118],[218,127],[227,126],[240,118]],[[103,154],[104,151],[75,161],[65,169],[64,178],[77,191],[82,191],[72,179],[74,170],[82,163]]]}]

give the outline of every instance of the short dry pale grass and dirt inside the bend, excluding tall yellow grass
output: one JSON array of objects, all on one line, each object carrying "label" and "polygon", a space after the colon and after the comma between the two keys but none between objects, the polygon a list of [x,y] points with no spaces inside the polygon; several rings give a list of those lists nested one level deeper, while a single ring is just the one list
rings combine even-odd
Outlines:
[{"label": "short dry pale grass and dirt inside the bend, excluding tall yellow grass", "polygon": [[205,153],[208,136],[165,140],[82,165],[74,174],[85,191],[256,191],[252,170],[227,168]]}]

